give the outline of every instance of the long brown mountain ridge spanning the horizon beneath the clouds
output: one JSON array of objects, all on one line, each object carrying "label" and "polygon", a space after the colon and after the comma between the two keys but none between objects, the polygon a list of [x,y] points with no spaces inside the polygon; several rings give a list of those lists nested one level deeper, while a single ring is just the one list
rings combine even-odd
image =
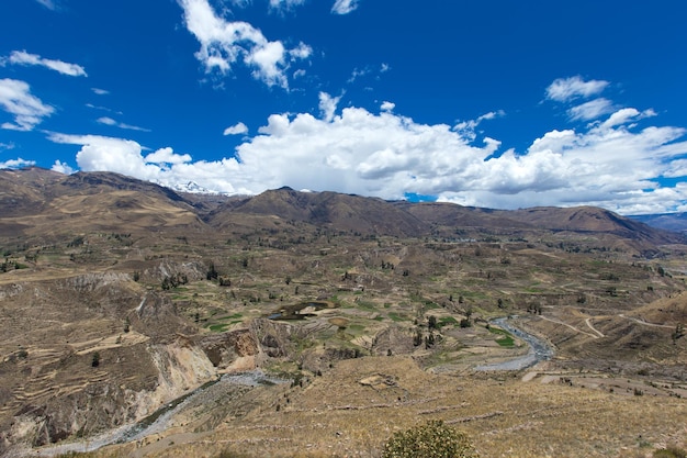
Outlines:
[{"label": "long brown mountain ridge spanning the horizon beneath the clouds", "polygon": [[[113,172],[61,175],[41,168],[0,170],[0,235],[88,231],[283,231],[307,224],[396,237],[530,236],[537,231],[619,241],[638,250],[684,243],[678,233],[593,208],[492,210],[452,203],[385,201],[284,187],[254,197],[178,192]],[[646,221],[653,221],[646,219]],[[612,238],[612,239],[611,239]]]}]

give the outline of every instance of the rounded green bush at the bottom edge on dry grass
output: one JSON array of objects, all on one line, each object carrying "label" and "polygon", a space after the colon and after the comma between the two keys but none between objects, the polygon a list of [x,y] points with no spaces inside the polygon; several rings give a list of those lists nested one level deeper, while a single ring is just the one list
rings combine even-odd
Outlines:
[{"label": "rounded green bush at the bottom edge on dry grass", "polygon": [[465,434],[430,421],[410,429],[394,433],[384,445],[382,458],[477,458]]}]

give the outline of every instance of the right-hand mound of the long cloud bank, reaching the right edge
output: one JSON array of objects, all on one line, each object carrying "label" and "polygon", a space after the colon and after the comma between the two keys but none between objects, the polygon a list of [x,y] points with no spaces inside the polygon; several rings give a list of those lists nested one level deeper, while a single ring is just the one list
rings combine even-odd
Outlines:
[{"label": "right-hand mound of the long cloud bank, reaching the right edge", "polygon": [[[687,153],[687,142],[677,142],[686,131],[627,124],[641,116],[635,109],[622,109],[584,132],[548,132],[521,156],[508,153],[487,160],[481,181],[491,186],[444,191],[439,200],[487,201],[496,208],[594,204],[626,214],[675,210],[686,190],[666,193],[655,180]],[[668,194],[669,200],[656,198]]]}]

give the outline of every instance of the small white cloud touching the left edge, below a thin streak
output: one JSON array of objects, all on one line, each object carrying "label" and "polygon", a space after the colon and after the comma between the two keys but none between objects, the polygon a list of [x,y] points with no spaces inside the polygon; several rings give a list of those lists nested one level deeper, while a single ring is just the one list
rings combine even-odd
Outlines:
[{"label": "small white cloud touching the left edge, below a thin streak", "polygon": [[5,122],[0,127],[12,131],[31,131],[55,111],[31,94],[29,83],[7,78],[0,79],[0,107],[14,116],[14,123]]}]

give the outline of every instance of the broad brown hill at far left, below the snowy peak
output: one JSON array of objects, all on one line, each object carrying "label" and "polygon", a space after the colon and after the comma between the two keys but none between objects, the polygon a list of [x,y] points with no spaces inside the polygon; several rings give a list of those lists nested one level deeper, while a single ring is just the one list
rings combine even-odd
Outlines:
[{"label": "broad brown hill at far left, below the snowy peak", "polygon": [[0,171],[0,234],[132,233],[201,228],[192,205],[170,189],[111,172]]}]

